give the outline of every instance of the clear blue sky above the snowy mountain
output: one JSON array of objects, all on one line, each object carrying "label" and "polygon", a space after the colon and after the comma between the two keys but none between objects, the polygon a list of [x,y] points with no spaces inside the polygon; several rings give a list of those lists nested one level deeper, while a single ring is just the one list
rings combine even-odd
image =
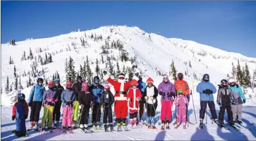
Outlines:
[{"label": "clear blue sky above the snowy mountain", "polygon": [[1,1],[1,44],[104,25],[256,57],[256,1]]}]

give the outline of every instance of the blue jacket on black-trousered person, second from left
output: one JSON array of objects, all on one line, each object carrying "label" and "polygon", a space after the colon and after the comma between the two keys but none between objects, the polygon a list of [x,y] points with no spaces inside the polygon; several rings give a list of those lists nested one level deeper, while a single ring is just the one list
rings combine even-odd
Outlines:
[{"label": "blue jacket on black-trousered person, second from left", "polygon": [[30,92],[30,97],[28,97],[28,102],[42,102],[42,94],[44,94],[44,91],[46,91],[46,88],[44,88],[44,86],[42,85],[36,84],[35,86],[33,86]]}]

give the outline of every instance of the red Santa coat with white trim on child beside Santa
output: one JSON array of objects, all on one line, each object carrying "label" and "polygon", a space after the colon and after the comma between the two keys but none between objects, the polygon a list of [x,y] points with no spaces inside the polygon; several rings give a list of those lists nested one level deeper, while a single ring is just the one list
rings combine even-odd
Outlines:
[{"label": "red Santa coat with white trim on child beside Santa", "polygon": [[129,102],[130,113],[138,112],[138,101],[136,100],[137,97],[142,98],[142,93],[140,93],[140,90],[138,88],[136,89],[131,88],[127,95],[127,98],[130,98],[130,102]]}]

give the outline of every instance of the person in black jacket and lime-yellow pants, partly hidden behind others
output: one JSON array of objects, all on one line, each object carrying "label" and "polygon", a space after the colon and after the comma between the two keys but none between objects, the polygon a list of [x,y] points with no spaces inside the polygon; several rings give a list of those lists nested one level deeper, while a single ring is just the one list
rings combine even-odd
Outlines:
[{"label": "person in black jacket and lime-yellow pants, partly hidden behind others", "polygon": [[78,110],[79,110],[79,102],[78,102],[78,93],[79,91],[82,90],[82,77],[78,76],[76,78],[76,82],[74,83],[74,85],[72,86],[72,89],[74,91],[75,94],[75,99],[74,99],[74,107],[73,107],[73,126],[76,126],[76,121],[78,120]]}]

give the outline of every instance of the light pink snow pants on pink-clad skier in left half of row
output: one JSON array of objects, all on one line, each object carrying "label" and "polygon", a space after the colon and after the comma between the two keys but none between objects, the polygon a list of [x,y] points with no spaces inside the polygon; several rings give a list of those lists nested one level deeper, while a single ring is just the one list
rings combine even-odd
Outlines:
[{"label": "light pink snow pants on pink-clad skier in left half of row", "polygon": [[73,107],[62,107],[63,116],[62,116],[62,126],[71,126],[72,125],[72,109]]}]

